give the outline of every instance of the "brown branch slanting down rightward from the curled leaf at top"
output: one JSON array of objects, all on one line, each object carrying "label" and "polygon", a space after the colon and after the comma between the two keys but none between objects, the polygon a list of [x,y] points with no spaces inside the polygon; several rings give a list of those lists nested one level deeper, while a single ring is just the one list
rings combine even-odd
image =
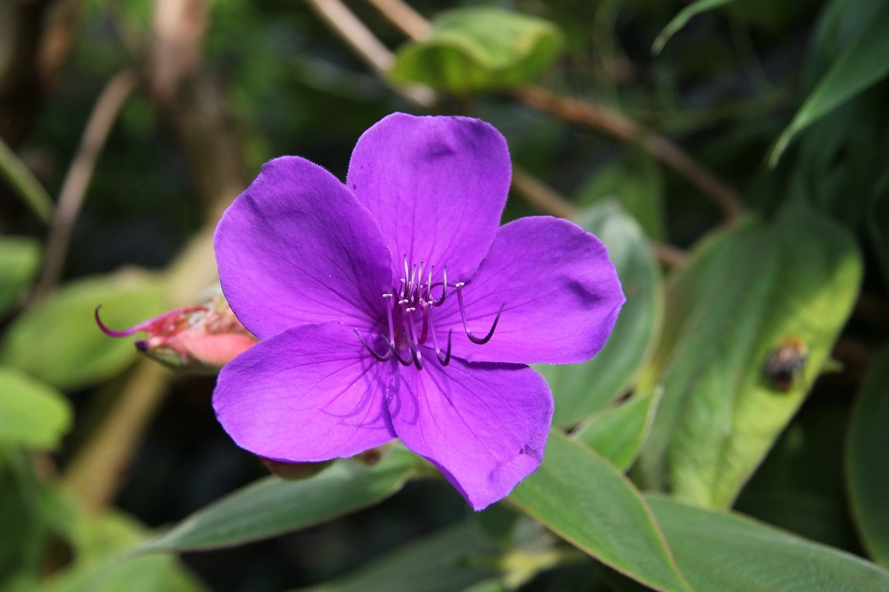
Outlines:
[{"label": "brown branch slanting down rightward from the curled leaf at top", "polygon": [[637,141],[653,156],[689,180],[734,220],[744,211],[741,197],[707,169],[698,164],[682,148],[645,129],[616,111],[582,100],[560,97],[539,86],[523,86],[509,92],[533,108],[547,111],[575,124],[586,125],[625,141]]}]

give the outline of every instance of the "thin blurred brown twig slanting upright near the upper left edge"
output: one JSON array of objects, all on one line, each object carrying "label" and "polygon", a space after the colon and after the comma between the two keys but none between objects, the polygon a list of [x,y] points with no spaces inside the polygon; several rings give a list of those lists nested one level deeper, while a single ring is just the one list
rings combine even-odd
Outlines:
[{"label": "thin blurred brown twig slanting upright near the upper left edge", "polygon": [[120,108],[135,87],[136,76],[131,71],[124,70],[105,85],[99,100],[92,108],[84,136],[80,140],[80,146],[77,147],[77,153],[61,186],[59,205],[52,217],[46,244],[44,269],[34,292],[34,300],[45,296],[59,282],[71,240],[71,229],[84,204],[86,188],[90,184],[96,160],[105,145],[105,140],[108,139],[108,132],[111,131],[111,125],[114,124]]}]

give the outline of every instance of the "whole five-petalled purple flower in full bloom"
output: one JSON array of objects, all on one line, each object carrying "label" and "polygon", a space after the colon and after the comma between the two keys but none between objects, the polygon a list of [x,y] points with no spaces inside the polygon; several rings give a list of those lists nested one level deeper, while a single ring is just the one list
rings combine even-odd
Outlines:
[{"label": "whole five-petalled purple flower in full bloom", "polygon": [[213,395],[235,442],[304,462],[400,437],[476,509],[533,473],[553,400],[525,364],[595,356],[624,297],[582,228],[500,226],[509,177],[491,125],[402,113],[364,132],[346,185],[296,156],[263,166],[215,236],[260,338]]}]

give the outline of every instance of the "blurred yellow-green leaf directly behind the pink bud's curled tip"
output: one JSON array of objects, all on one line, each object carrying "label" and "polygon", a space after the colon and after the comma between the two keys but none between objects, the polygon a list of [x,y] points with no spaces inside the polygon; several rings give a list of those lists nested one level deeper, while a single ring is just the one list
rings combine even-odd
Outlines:
[{"label": "blurred yellow-green leaf directly behind the pink bud's curled tip", "polygon": [[10,326],[0,344],[0,363],[58,388],[82,388],[106,380],[132,364],[132,340],[108,337],[93,318],[124,329],[164,310],[163,284],[147,274],[117,274],[62,286]]}]

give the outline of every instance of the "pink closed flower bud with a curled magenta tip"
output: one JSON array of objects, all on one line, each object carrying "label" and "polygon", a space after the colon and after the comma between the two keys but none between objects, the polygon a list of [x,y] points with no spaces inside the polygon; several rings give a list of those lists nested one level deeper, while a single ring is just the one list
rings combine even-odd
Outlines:
[{"label": "pink closed flower bud with a curled magenta tip", "polygon": [[148,333],[148,337],[134,341],[140,353],[188,372],[217,372],[258,341],[219,296],[213,296],[205,306],[177,308],[125,331],[112,331],[102,324],[99,308],[101,305],[96,307],[96,323],[107,335]]}]

